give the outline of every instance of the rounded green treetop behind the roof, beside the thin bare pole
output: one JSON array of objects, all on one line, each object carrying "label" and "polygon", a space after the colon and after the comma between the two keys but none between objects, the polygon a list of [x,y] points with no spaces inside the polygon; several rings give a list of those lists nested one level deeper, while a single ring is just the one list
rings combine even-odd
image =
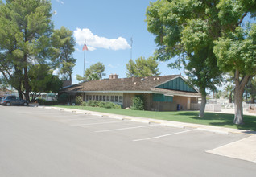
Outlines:
[{"label": "rounded green treetop behind the roof, beside the thin bare pole", "polygon": [[126,64],[126,76],[127,77],[143,77],[143,76],[159,76],[159,62],[154,60],[151,56],[148,59],[145,57],[139,57],[135,60],[129,60]]}]

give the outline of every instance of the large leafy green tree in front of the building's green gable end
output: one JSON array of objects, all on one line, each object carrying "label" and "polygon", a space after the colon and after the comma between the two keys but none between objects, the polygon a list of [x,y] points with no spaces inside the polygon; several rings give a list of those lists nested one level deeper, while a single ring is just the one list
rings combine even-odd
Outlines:
[{"label": "large leafy green tree in front of the building's green gable end", "polygon": [[159,60],[174,58],[169,66],[181,68],[202,95],[199,117],[204,117],[206,90],[216,90],[221,72],[213,55],[213,41],[220,36],[218,0],[159,0],[147,7],[147,30],[155,35]]}]

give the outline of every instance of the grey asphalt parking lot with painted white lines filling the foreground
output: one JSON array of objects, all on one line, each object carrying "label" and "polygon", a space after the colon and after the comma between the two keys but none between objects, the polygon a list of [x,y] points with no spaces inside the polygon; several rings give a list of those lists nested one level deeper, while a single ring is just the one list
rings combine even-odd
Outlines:
[{"label": "grey asphalt parking lot with painted white lines filling the foreground", "polygon": [[0,106],[1,176],[254,176],[256,163],[209,150],[249,137]]}]

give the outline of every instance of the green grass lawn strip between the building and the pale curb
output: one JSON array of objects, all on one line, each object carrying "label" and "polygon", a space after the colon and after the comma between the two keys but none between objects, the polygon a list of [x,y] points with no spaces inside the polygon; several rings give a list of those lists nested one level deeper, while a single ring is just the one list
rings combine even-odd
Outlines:
[{"label": "green grass lawn strip between the building and the pale curb", "polygon": [[68,106],[68,105],[55,105],[56,107],[81,109],[96,111],[101,113],[114,113],[119,115],[134,116],[134,117],[147,117],[154,119],[161,119],[167,121],[180,121],[194,124],[202,124],[209,126],[221,126],[240,130],[256,131],[256,116],[244,115],[244,125],[237,126],[233,124],[233,114],[225,113],[205,113],[203,118],[198,117],[198,111],[173,111],[173,112],[155,112],[155,111],[138,111],[126,109],[105,109],[98,107],[88,106]]}]

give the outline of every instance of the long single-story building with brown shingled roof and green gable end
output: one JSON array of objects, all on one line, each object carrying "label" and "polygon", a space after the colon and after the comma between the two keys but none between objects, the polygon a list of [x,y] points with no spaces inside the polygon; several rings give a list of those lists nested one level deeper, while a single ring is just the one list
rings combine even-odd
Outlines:
[{"label": "long single-story building with brown shingled roof and green gable end", "polygon": [[199,109],[198,90],[181,75],[146,76],[118,78],[109,75],[109,79],[85,81],[63,88],[61,93],[68,93],[71,100],[82,96],[84,101],[111,101],[127,108],[132,105],[135,95],[143,95],[145,109],[155,111]]}]

